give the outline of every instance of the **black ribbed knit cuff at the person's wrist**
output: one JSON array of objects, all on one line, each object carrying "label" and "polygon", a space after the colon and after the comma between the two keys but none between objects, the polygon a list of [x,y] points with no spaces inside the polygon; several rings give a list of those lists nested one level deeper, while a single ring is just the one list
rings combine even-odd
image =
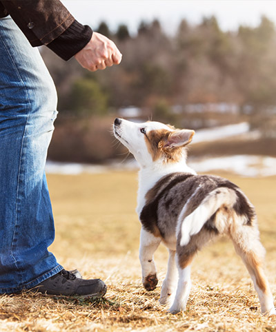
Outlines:
[{"label": "black ribbed knit cuff at the person's wrist", "polygon": [[92,37],[92,29],[75,20],[62,34],[46,45],[61,59],[68,61],[82,50]]}]

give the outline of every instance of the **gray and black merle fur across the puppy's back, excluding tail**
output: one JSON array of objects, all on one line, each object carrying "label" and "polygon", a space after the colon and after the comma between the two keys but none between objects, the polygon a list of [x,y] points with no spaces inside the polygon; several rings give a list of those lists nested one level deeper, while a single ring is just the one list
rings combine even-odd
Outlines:
[{"label": "gray and black merle fur across the puppy's back, excluding tail", "polygon": [[[233,209],[239,216],[246,216],[246,225],[251,225],[255,211],[237,185],[219,176],[180,172],[164,176],[148,191],[146,205],[140,214],[141,224],[147,231],[166,240],[175,235],[177,219],[184,205],[188,202],[185,215],[188,216],[211,191],[219,187],[235,191],[237,202]],[[204,225],[204,230],[213,235],[219,233],[214,225],[215,215],[216,213]]]}]

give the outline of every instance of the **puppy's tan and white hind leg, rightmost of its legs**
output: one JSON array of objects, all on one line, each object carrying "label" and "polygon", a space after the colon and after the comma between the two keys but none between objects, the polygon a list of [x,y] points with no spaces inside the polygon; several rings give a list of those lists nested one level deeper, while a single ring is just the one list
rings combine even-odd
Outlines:
[{"label": "puppy's tan and white hind leg, rightmost of its legs", "polygon": [[233,227],[230,229],[230,236],[233,240],[236,252],[242,257],[250,277],[253,280],[261,304],[262,313],[275,315],[276,311],[273,304],[273,295],[262,267],[265,249],[259,240],[257,221],[253,220],[251,225],[241,225],[240,222],[234,222]]}]

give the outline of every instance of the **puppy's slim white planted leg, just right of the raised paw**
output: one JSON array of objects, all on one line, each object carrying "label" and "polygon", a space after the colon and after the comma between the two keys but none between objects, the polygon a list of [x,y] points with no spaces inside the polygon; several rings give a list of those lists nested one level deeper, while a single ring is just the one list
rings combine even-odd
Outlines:
[{"label": "puppy's slim white planted leg, just right of the raised paw", "polygon": [[169,249],[168,269],[166,273],[166,278],[162,284],[159,300],[160,304],[170,304],[172,298],[175,295],[177,276],[178,273],[177,265],[175,263],[175,250]]}]

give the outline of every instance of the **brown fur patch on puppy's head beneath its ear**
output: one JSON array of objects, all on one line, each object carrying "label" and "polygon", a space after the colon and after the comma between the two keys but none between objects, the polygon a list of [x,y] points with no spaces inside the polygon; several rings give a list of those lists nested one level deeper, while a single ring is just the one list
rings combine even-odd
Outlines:
[{"label": "brown fur patch on puppy's head beneath its ear", "polygon": [[183,154],[181,147],[168,148],[166,143],[172,132],[166,129],[158,129],[150,131],[146,136],[146,145],[148,147],[148,152],[152,155],[152,160],[155,161],[161,156],[164,156],[164,161],[167,162],[177,162],[181,159]]}]

